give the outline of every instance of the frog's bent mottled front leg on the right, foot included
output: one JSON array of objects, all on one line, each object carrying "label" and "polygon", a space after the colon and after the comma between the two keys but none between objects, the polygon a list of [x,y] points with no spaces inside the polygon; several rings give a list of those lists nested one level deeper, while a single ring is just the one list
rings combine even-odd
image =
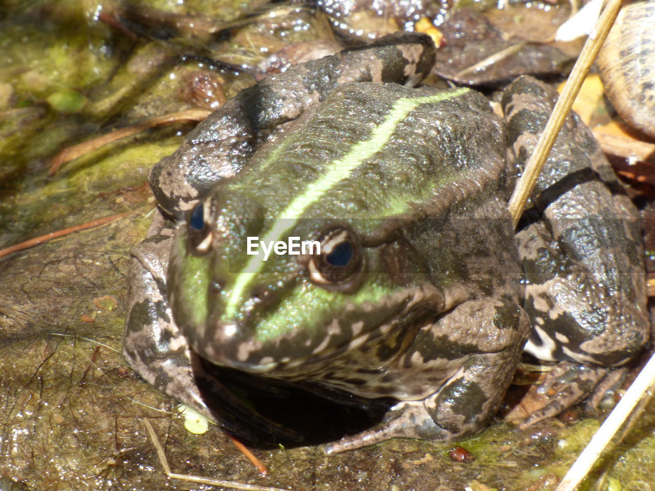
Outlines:
[{"label": "frog's bent mottled front leg on the right, foot included", "polygon": [[528,333],[527,315],[518,304],[481,299],[458,305],[422,327],[395,363],[405,373],[421,371],[427,380],[431,374],[455,373],[425,399],[394,405],[381,426],[327,445],[325,452],[396,437],[452,440],[475,433],[498,410]]}]

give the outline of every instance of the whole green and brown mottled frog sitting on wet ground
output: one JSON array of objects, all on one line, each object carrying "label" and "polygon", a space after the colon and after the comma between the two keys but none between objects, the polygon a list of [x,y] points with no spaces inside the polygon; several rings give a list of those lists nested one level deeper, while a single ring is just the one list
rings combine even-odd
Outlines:
[{"label": "whole green and brown mottled frog sitting on wet ground", "polygon": [[301,435],[208,366],[392,401],[327,454],[483,429],[524,351],[561,390],[522,426],[616,384],[650,329],[637,210],[570,115],[515,228],[508,199],[557,94],[531,77],[495,105],[421,86],[434,50],[402,33],[267,77],[153,167],[123,348],[137,374],[245,437]]}]

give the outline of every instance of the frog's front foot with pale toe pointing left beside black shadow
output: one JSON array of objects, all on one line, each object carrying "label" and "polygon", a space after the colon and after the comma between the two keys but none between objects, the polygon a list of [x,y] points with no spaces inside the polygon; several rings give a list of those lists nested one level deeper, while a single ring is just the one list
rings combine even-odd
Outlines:
[{"label": "frog's front foot with pale toe pointing left beside black shadow", "polygon": [[390,410],[386,421],[357,435],[345,437],[323,447],[326,454],[339,454],[363,446],[375,445],[392,438],[447,440],[455,438],[447,429],[434,422],[424,401],[405,401]]}]

